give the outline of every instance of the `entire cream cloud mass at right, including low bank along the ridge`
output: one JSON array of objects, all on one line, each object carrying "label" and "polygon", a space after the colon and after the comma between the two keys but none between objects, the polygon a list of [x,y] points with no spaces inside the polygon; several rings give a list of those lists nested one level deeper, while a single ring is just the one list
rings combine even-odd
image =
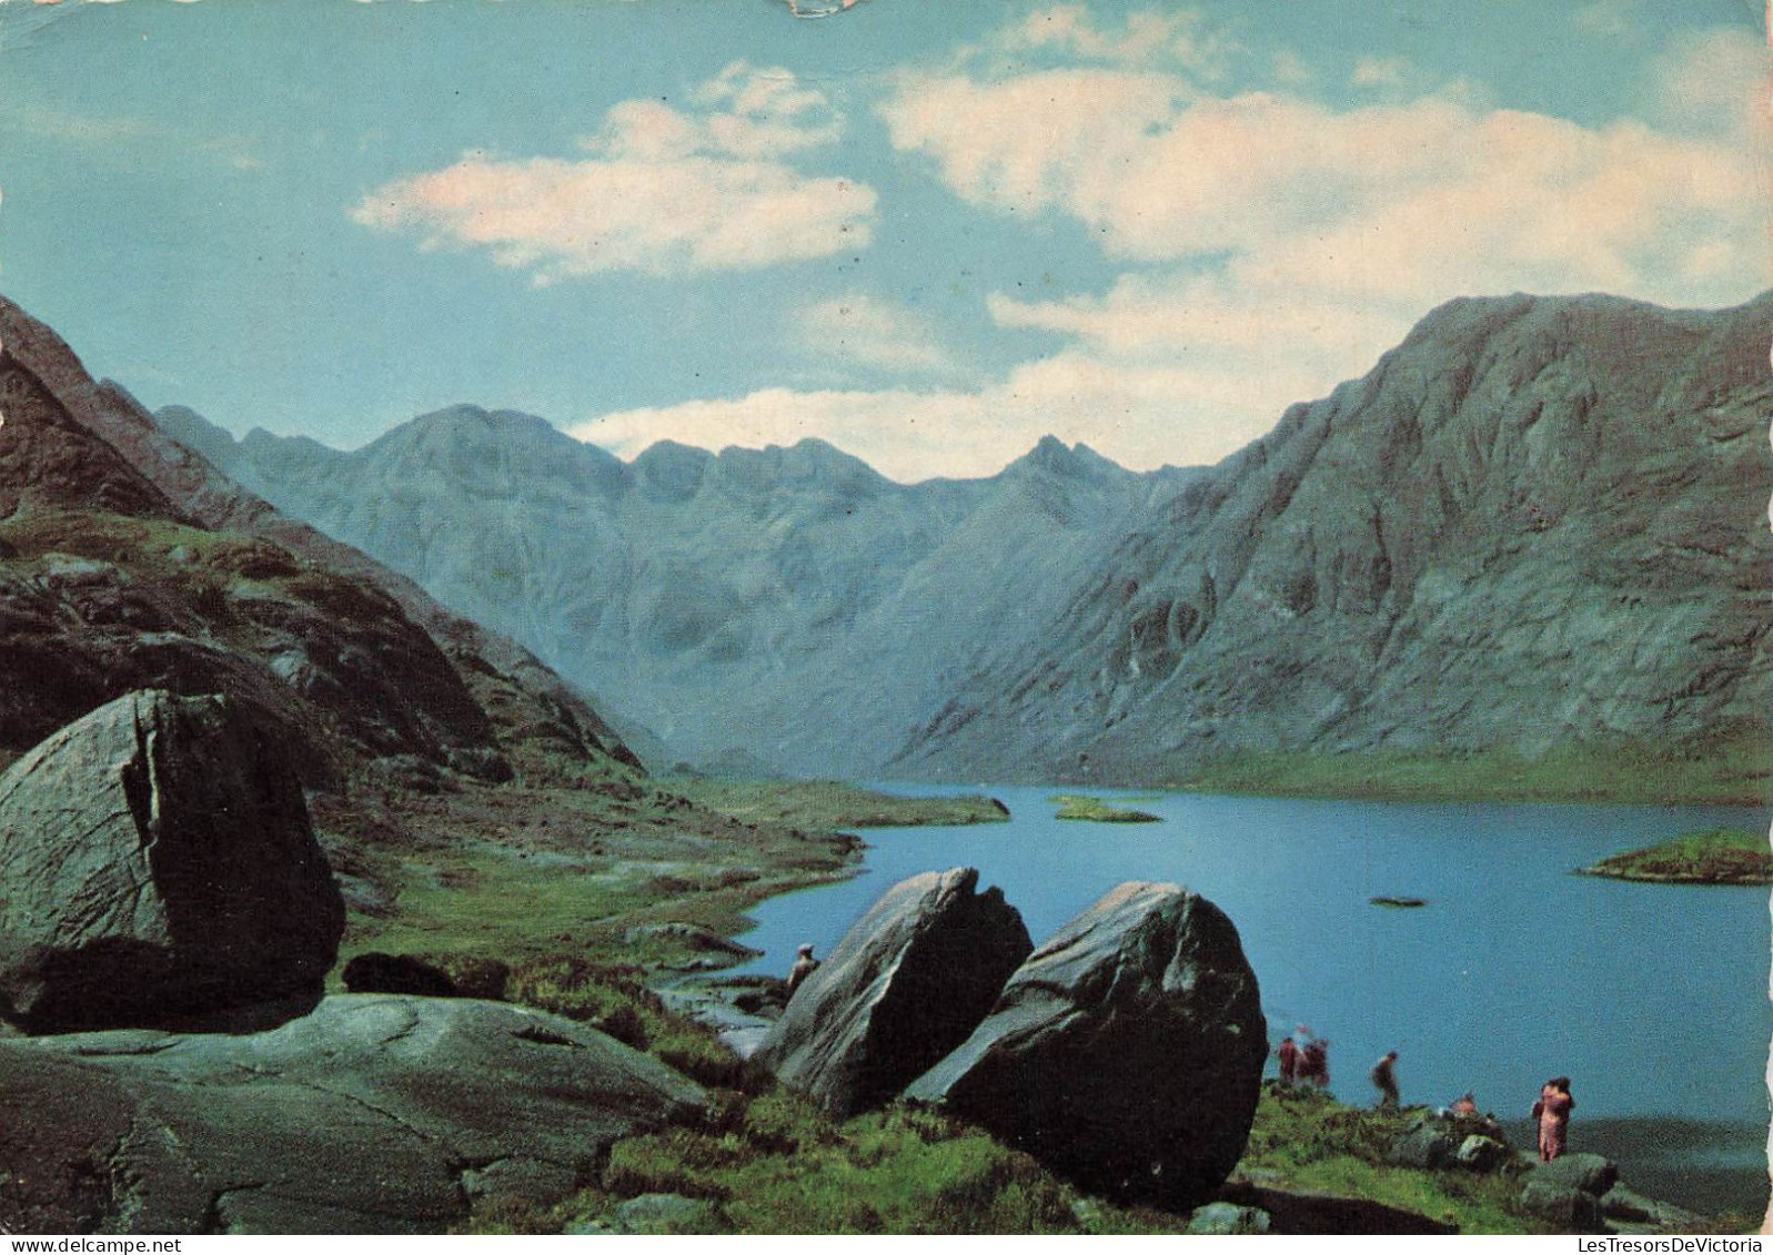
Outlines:
[{"label": "entire cream cloud mass at right, including low bank along the ridge", "polygon": [[[1051,39],[1087,43],[1074,25]],[[1658,126],[1493,108],[1459,85],[1332,108],[1124,66],[902,78],[881,108],[897,149],[973,204],[1073,216],[1128,264],[1099,296],[989,298],[1000,326],[1062,347],[977,390],[773,388],[576,434],[624,454],[816,434],[906,480],[991,473],[1048,433],[1135,468],[1207,463],[1452,296],[1732,303],[1769,282],[1768,145],[1739,115],[1761,60],[1722,35],[1675,50]]]}]

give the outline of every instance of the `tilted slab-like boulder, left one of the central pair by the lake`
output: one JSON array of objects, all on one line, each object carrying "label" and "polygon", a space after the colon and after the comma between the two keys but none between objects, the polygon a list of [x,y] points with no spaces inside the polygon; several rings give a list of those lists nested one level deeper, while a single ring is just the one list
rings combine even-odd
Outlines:
[{"label": "tilted slab-like boulder, left one of the central pair by the lake", "polygon": [[979,869],[886,890],[794,991],[754,1058],[837,1115],[886,1103],[966,1041],[1034,943]]}]

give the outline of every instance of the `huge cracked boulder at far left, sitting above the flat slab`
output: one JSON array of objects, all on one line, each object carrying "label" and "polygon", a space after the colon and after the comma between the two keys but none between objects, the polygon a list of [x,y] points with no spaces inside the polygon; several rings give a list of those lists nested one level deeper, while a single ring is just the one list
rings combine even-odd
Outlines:
[{"label": "huge cracked boulder at far left, sitting above the flat slab", "polygon": [[129,693],[0,776],[0,1016],[32,1032],[319,996],[344,904],[268,718]]}]

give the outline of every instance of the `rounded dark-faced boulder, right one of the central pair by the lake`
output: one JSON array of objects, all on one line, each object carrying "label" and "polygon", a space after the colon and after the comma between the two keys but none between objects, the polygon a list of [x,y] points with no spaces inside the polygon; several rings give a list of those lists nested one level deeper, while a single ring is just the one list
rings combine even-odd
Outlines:
[{"label": "rounded dark-faced boulder, right one of the central pair by the lake", "polygon": [[1089,1189],[1191,1207],[1243,1154],[1266,1041],[1225,913],[1177,885],[1128,883],[1035,950],[906,1097]]}]

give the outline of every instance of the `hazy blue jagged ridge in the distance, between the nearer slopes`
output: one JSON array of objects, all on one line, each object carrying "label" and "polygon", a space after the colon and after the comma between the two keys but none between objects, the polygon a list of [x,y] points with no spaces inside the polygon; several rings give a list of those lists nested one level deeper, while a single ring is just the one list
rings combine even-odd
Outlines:
[{"label": "hazy blue jagged ridge in the distance, between the nearer slopes", "polygon": [[1186,475],[1044,440],[988,480],[904,486],[816,440],[633,464],[470,406],[356,452],[188,409],[158,422],[282,509],[535,649],[660,753],[879,771],[1074,573]]}]

